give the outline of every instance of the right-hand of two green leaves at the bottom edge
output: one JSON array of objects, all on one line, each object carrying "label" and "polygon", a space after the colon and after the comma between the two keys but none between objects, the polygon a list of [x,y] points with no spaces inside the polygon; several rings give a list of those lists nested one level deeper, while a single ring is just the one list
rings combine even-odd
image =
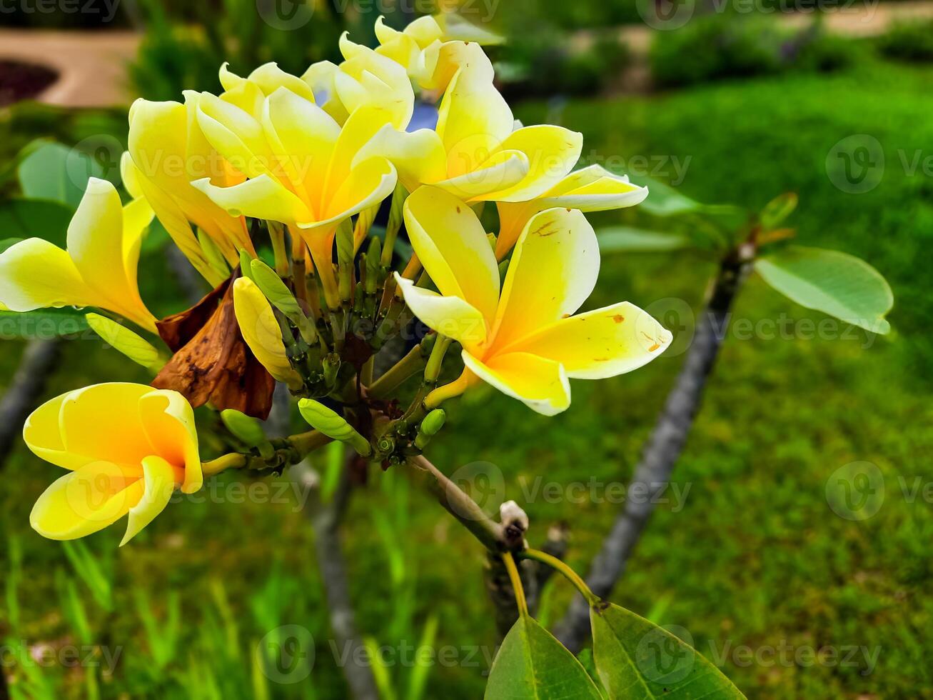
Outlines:
[{"label": "right-hand of two green leaves at the bottom edge", "polygon": [[745,697],[689,644],[634,612],[598,603],[590,622],[596,670],[610,700]]}]

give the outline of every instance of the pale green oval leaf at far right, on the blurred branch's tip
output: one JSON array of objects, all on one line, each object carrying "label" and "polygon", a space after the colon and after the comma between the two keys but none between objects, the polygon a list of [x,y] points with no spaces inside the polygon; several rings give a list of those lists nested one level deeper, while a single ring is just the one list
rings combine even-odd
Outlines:
[{"label": "pale green oval leaf at far right, on the blurred branch's tip", "polygon": [[865,260],[838,250],[789,245],[757,259],[755,270],[801,306],[874,333],[891,329],[884,315],[894,305],[894,294]]}]

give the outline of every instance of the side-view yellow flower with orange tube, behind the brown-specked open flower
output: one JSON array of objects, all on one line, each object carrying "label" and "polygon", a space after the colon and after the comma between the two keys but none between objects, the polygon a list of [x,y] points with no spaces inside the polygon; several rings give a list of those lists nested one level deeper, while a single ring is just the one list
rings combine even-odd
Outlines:
[{"label": "side-view yellow flower with orange tube, behind the brown-specked open flower", "polygon": [[495,257],[503,259],[519,239],[528,219],[555,206],[579,209],[581,212],[602,212],[641,203],[648,197],[648,188],[629,182],[627,175],[615,175],[601,165],[578,170],[564,177],[547,192],[528,202],[499,202],[499,237],[495,242]]}]

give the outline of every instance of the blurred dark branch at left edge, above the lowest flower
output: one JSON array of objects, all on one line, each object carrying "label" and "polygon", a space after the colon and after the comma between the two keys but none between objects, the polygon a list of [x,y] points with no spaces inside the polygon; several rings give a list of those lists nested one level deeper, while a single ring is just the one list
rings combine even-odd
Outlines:
[{"label": "blurred dark branch at left edge, above the lowest flower", "polygon": [[23,422],[45,389],[49,371],[58,359],[59,343],[58,340],[27,343],[7,393],[0,399],[0,469],[13,449],[13,441],[21,435]]}]

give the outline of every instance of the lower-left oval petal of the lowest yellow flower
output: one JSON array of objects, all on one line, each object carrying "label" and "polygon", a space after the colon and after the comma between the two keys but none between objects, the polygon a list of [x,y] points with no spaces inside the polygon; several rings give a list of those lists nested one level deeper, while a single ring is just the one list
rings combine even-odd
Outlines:
[{"label": "lower-left oval petal of the lowest yellow flower", "polygon": [[29,524],[49,539],[84,537],[126,515],[144,490],[140,477],[127,477],[106,462],[91,462],[53,482],[35,501]]}]

